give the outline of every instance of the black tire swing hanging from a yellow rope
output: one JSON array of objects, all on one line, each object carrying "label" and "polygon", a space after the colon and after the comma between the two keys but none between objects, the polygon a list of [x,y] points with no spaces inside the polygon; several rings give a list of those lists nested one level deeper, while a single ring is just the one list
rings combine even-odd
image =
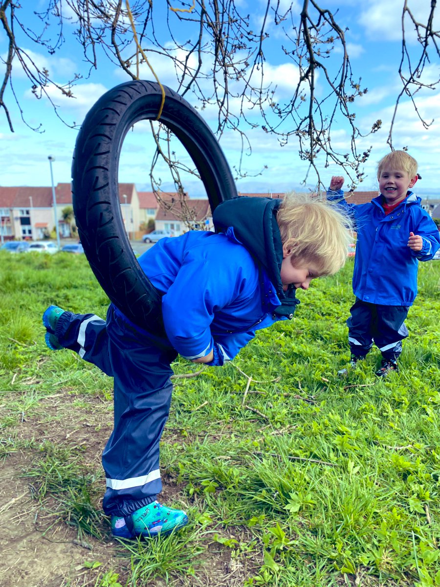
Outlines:
[{"label": "black tire swing hanging from a yellow rope", "polygon": [[[170,88],[164,89],[160,120],[187,149],[214,211],[237,195],[231,169],[198,112]],[[118,166],[127,131],[139,120],[155,119],[161,99],[154,82],[131,81],[109,90],[84,119],[72,163],[73,210],[92,271],[121,312],[157,335],[163,334],[160,295],[140,268],[124,229]]]}]

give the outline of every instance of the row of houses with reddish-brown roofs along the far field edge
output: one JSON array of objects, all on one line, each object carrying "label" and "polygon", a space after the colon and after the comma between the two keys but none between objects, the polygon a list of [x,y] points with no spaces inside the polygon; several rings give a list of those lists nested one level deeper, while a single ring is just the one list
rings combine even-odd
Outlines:
[{"label": "row of houses with reddish-brown roofs along the far field edge", "polygon": [[[241,193],[256,197],[280,198],[283,193]],[[350,202],[363,204],[377,196],[377,191],[355,191],[347,194]],[[207,199],[179,198],[177,194],[163,194],[158,203],[152,191],[137,191],[133,183],[119,184],[121,215],[131,239],[141,238],[145,232],[168,230],[175,235],[188,228],[212,228],[212,215]],[[422,206],[434,218],[440,217],[439,201],[424,200]],[[47,238],[57,227],[60,238],[75,232],[75,220],[69,214],[72,191],[69,183],[52,187],[1,187],[0,236],[5,240],[40,240]]]}]

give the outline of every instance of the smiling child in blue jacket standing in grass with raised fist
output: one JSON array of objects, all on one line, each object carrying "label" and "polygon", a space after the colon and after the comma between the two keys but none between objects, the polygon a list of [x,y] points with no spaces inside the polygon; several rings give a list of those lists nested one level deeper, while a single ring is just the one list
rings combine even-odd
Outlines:
[{"label": "smiling child in blue jacket standing in grass with raised fist", "polygon": [[[327,200],[347,210],[357,231],[348,343],[350,365],[356,366],[375,345],[382,353],[376,372],[397,371],[409,306],[417,295],[419,261],[429,261],[440,247],[440,235],[428,212],[410,190],[418,179],[417,161],[405,151],[392,151],[378,164],[380,195],[368,204],[348,204],[343,177],[332,177]],[[340,373],[346,373],[342,370]]]}]

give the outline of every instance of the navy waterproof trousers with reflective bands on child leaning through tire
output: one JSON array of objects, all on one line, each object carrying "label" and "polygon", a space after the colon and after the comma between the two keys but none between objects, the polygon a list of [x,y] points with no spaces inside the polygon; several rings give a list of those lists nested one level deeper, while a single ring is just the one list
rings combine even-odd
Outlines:
[{"label": "navy waterproof trousers with reflective bands on child leaning through tire", "polygon": [[162,489],[159,441],[170,410],[170,363],[177,353],[128,321],[113,305],[107,321],[94,314],[63,313],[55,335],[114,379],[114,429],[104,448],[103,510],[127,516]]}]

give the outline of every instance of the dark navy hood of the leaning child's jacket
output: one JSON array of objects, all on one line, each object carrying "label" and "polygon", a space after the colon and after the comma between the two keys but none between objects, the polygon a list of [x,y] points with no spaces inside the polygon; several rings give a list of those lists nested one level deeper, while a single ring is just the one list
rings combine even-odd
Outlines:
[{"label": "dark navy hood of the leaning child's jacket", "polygon": [[276,221],[281,203],[278,198],[239,196],[219,204],[212,220],[216,232],[232,228],[235,238],[248,249],[275,287],[281,302],[275,313],[292,318],[299,299],[295,295],[295,287],[289,286],[287,291],[283,291],[281,282],[283,245]]}]

